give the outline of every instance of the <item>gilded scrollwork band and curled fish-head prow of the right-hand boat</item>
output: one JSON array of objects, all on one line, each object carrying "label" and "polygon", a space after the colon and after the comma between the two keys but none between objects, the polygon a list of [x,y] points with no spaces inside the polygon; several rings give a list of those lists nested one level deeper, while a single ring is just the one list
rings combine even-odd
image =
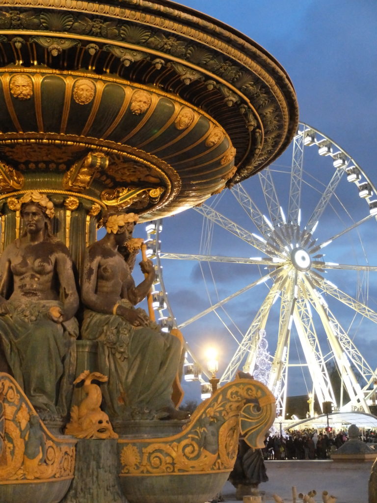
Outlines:
[{"label": "gilded scrollwork band and curled fish-head prow of the right-hand boat", "polygon": [[275,413],[266,386],[237,379],[203,402],[181,433],[158,441],[120,439],[121,477],[230,471],[240,431],[251,447],[263,447]]}]

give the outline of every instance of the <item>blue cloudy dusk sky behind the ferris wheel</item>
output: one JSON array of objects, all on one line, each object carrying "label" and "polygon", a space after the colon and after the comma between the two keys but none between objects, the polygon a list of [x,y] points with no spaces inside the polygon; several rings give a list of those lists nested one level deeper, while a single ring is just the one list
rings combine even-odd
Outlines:
[{"label": "blue cloudy dusk sky behind the ferris wheel", "polygon": [[[268,2],[185,0],[181,4],[227,23],[270,52],[284,66],[293,81],[298,97],[300,121],[321,131],[340,145],[361,166],[372,183],[377,184],[375,164],[377,158],[377,7],[374,0],[348,2],[344,2],[344,0],[331,0],[330,2],[306,0],[300,3],[288,0],[269,0]],[[276,161],[277,170],[280,169],[279,166],[289,165],[289,155],[292,154],[286,154],[281,160]],[[310,165],[311,160],[309,156],[305,169],[321,180],[321,170],[325,170],[325,167],[322,168],[320,165],[317,167],[316,159],[312,160],[314,165]],[[326,180],[323,180],[323,183],[326,184]],[[352,191],[353,187],[348,186],[344,190],[348,191],[349,189],[350,196],[345,193],[341,194],[345,204],[349,207],[352,206],[352,209],[354,206],[358,208],[361,204],[360,215],[368,214],[365,201],[360,203],[357,191]],[[252,191],[258,200],[260,195],[258,196],[257,193],[260,191],[260,185],[257,177],[252,177],[247,181],[247,190]],[[320,185],[316,190],[319,194]],[[286,195],[282,195],[282,197],[286,197]],[[212,198],[209,203],[211,201]],[[233,209],[229,205],[228,210],[229,218],[233,218]],[[324,216],[324,218],[327,217]],[[330,220],[328,223],[331,223]],[[352,263],[349,259],[352,253],[356,256],[365,253],[367,262],[371,265],[377,265],[374,250],[376,225],[375,219],[370,219],[367,226],[362,229],[362,242],[355,246],[352,243],[352,250],[347,248],[346,241],[339,242],[339,247],[333,247],[331,252],[335,257],[331,257],[331,259],[329,257],[327,260]],[[179,251],[180,253],[185,251],[186,253],[199,253],[200,226],[201,217],[194,210],[165,219],[161,233],[161,249],[163,251]],[[141,227],[138,228],[138,236],[141,235]],[[323,231],[323,238],[325,237],[326,232]],[[250,250],[243,249],[242,243],[239,249],[229,249],[231,245],[229,243],[227,246],[227,244],[223,242],[224,255],[256,256],[257,252],[252,253]],[[349,259],[348,262],[347,259]],[[200,272],[198,266],[193,264],[191,266],[178,265],[177,261],[165,261],[163,267],[165,287],[179,324],[204,308],[203,299],[206,295],[202,290],[203,286],[200,286]],[[241,288],[242,282],[239,280],[245,276],[246,270],[239,269],[235,275],[230,273],[232,277],[221,273],[220,269],[216,270],[215,268],[214,271],[218,274],[217,295],[223,298]],[[264,273],[259,272],[258,274]],[[371,274],[375,275],[376,273]],[[354,295],[351,291],[353,279],[350,274],[345,275],[344,272],[338,272],[334,277],[339,284],[343,283],[343,290],[348,288],[349,295]],[[370,283],[377,283],[371,279],[372,277],[369,278]],[[251,281],[252,278],[248,278],[243,284]],[[373,297],[372,289],[369,290],[369,296]],[[180,304],[179,307],[177,302]],[[249,302],[249,305],[255,302],[254,307],[258,308],[260,300],[253,294],[251,300],[245,302]],[[375,304],[375,297],[371,302]],[[183,312],[182,304],[185,309],[187,308],[187,315]],[[253,317],[252,314],[244,316],[242,305],[241,301],[238,310],[239,313],[241,311],[242,313],[237,321],[240,328],[242,327],[241,331],[247,328]],[[371,307],[376,308],[375,305]],[[341,310],[339,316],[341,316]],[[233,349],[229,347],[228,352],[227,337],[229,334],[219,334],[219,331],[214,328],[215,325],[212,325],[216,322],[215,318],[215,316],[209,317],[203,322],[201,328],[185,328],[183,334],[189,344],[194,346],[197,353],[204,350],[208,343],[217,342],[220,345],[222,349],[220,350],[221,368],[219,374],[221,374],[234,350],[235,343],[234,341],[229,342],[230,346],[233,344]],[[352,320],[342,322],[347,327]],[[275,328],[276,330],[277,328]],[[370,345],[374,345],[375,342],[374,327],[369,326],[363,330],[363,336],[358,335],[359,340],[357,341],[355,338],[355,342],[358,347],[359,344],[361,345],[359,348],[361,352],[367,352]],[[232,337],[229,336],[229,339],[231,340]],[[274,352],[273,345],[272,337],[269,342],[269,350],[272,354]],[[370,364],[375,368],[377,358],[372,357]],[[195,389],[194,392],[193,389]],[[293,394],[305,392],[305,389],[303,390],[299,386],[293,390]],[[199,400],[198,386],[186,390],[186,393],[188,398]]]}]

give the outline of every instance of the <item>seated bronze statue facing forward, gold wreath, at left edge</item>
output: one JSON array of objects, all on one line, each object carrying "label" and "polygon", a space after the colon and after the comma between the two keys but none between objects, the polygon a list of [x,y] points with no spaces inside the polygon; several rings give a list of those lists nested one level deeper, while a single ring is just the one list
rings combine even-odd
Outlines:
[{"label": "seated bronze statue facing forward, gold wreath, at left edge", "polygon": [[0,262],[0,370],[13,375],[38,412],[59,418],[70,405],[69,354],[78,335],[72,261],[51,235],[54,206],[45,194],[28,192],[8,204],[21,211],[23,232]]}]

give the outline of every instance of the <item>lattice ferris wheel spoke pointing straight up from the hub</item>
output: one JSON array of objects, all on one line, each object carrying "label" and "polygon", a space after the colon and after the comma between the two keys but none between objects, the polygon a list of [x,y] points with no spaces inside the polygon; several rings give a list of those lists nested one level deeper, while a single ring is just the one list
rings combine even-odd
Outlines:
[{"label": "lattice ferris wheel spoke pointing straight up from the hub", "polygon": [[[304,127],[305,130],[305,127]],[[293,139],[291,187],[288,207],[288,221],[300,224],[301,185],[304,162],[304,132]]]}]

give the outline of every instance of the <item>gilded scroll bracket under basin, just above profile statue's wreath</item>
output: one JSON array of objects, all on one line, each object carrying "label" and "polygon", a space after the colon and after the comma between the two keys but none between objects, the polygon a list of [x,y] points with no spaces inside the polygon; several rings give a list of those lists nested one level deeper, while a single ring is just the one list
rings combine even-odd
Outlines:
[{"label": "gilded scroll bracket under basin, just above profile statue's wreath", "polygon": [[101,193],[101,200],[106,206],[124,209],[131,206],[138,199],[144,198],[145,195],[147,195],[150,202],[157,203],[164,192],[163,187],[118,187],[117,189],[105,189]]}]

